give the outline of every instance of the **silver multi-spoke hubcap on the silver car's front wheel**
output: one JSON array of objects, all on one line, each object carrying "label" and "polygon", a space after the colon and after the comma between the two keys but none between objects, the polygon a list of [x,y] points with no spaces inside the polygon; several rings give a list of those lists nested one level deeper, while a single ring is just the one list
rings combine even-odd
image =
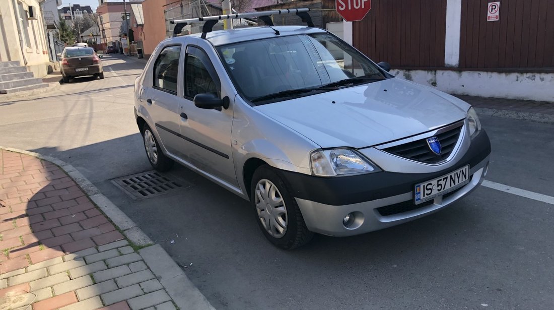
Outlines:
[{"label": "silver multi-spoke hubcap on the silver car's front wheel", "polygon": [[256,185],[255,204],[258,217],[265,230],[275,238],[286,233],[288,217],[285,201],[273,182],[261,179]]}]

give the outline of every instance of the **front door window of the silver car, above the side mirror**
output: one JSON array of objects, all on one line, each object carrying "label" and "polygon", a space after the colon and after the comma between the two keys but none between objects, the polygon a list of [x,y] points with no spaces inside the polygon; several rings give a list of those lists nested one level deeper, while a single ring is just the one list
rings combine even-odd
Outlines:
[{"label": "front door window of the silver car, above the side mirror", "polygon": [[184,95],[194,98],[197,94],[206,93],[220,97],[219,77],[206,52],[196,47],[187,47],[184,65]]}]

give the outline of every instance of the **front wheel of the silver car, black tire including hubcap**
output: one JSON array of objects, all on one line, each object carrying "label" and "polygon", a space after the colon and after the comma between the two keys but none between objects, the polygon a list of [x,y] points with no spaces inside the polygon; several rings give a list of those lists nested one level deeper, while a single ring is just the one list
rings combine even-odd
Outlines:
[{"label": "front wheel of the silver car, black tire including hubcap", "polygon": [[[260,189],[258,189],[258,186],[261,186]],[[271,186],[275,187],[275,192],[273,192]],[[260,208],[257,207],[257,202],[264,199],[261,189],[267,193],[268,200],[266,201],[275,201],[270,197],[280,198],[280,201],[275,202],[273,206],[268,203],[265,205],[259,204]],[[285,250],[292,250],[305,245],[314,237],[314,233],[306,227],[302,212],[294,197],[290,195],[291,192],[285,180],[269,165],[260,166],[254,172],[252,184],[250,184],[250,203],[255,212],[256,220],[264,236],[275,246]],[[285,210],[284,214],[283,209]],[[272,221],[272,218],[274,221]],[[285,223],[284,226],[283,222]],[[267,225],[270,226],[269,229],[266,228]],[[278,226],[281,229],[284,228],[284,230],[280,231]]]}]

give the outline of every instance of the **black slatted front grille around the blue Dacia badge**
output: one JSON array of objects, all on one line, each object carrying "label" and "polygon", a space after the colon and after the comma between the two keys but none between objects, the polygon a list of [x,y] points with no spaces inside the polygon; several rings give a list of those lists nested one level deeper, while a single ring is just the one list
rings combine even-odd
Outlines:
[{"label": "black slatted front grille around the blue Dacia badge", "polygon": [[391,148],[383,149],[383,151],[404,158],[426,162],[427,164],[435,164],[439,161],[447,159],[447,157],[450,156],[450,153],[454,150],[454,146],[460,136],[461,128],[462,126],[460,124],[460,126],[454,129],[435,135],[442,146],[440,155],[437,155],[431,151],[429,145],[427,144],[427,138],[392,146]]}]

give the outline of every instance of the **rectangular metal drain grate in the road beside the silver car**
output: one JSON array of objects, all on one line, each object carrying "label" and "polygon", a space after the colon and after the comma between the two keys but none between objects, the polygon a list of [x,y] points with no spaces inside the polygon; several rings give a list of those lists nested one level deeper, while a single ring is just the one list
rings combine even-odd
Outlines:
[{"label": "rectangular metal drain grate in the road beside the silver car", "polygon": [[[172,180],[171,177],[161,175],[156,171],[146,171],[140,174],[120,177],[112,180],[114,184],[127,195],[135,199],[150,198],[166,192],[181,189],[184,182]],[[189,187],[185,184],[185,187]]]}]

